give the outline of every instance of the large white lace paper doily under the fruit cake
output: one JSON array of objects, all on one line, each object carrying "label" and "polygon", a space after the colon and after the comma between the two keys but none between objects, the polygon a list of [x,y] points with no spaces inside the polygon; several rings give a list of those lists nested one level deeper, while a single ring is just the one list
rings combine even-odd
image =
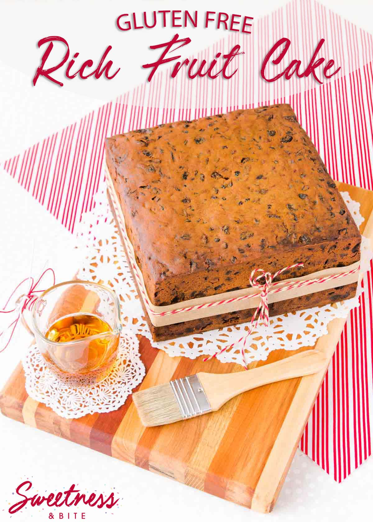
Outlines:
[{"label": "large white lace paper doily under the fruit cake", "polygon": [[[359,227],[364,221],[359,211],[360,204],[351,199],[348,192],[343,192],[342,196]],[[109,207],[104,183],[95,196],[94,209],[85,213],[79,223],[77,248],[84,259],[78,272],[79,279],[101,280],[104,285],[110,286],[119,296],[123,325],[134,334],[147,337],[151,345],[166,351],[171,357],[183,355],[195,359],[200,355],[212,355],[228,343],[238,341],[243,331],[248,329],[249,323],[243,323],[178,339],[153,341]],[[369,269],[371,257],[370,242],[363,237],[360,260],[362,271]],[[327,333],[328,323],[332,319],[347,317],[351,309],[359,306],[362,291],[359,288],[354,298],[344,302],[271,317],[268,327],[260,325],[257,331],[250,334],[246,342],[247,361],[264,361],[271,351],[279,348],[296,350],[313,346],[319,337]],[[242,364],[240,349],[236,345],[229,351],[219,353],[217,358],[222,362]]]}]

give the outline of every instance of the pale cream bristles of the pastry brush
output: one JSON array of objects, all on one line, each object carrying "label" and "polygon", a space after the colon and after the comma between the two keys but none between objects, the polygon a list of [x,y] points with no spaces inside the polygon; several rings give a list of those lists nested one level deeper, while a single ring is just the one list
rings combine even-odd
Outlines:
[{"label": "pale cream bristles of the pastry brush", "polygon": [[170,383],[141,390],[132,398],[144,426],[161,426],[183,418]]}]

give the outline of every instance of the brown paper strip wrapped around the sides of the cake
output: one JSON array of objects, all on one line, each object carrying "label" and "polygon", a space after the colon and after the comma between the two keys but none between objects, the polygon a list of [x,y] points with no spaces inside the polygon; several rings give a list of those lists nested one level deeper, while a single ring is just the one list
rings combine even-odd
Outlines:
[{"label": "brown paper strip wrapped around the sides of the cake", "polygon": [[[126,240],[126,244],[129,245],[129,247],[126,247],[127,254],[129,255],[129,258],[131,260],[131,263],[137,266],[135,261],[135,252],[133,249],[133,246],[131,244],[131,241],[129,240],[129,237],[127,236],[126,227],[125,227],[125,220],[122,212],[122,208],[119,203],[118,196],[115,193],[113,182],[111,179],[111,176],[109,174],[107,165],[105,163],[104,165],[105,174],[106,174],[106,182],[108,185],[110,197],[112,199],[113,207],[116,212],[116,219],[118,219],[118,223],[120,225],[120,232],[123,235],[123,239]],[[333,276],[337,274],[343,274],[344,272],[349,272],[352,270],[355,270],[359,267],[360,262],[353,263],[352,265],[344,266],[344,267],[336,267],[336,268],[327,268],[325,270],[319,270],[318,272],[313,272],[312,274],[308,274],[306,276],[293,278],[293,279],[285,279],[281,281],[281,283],[278,285],[277,288],[280,286],[289,284],[289,283],[295,283],[300,281],[306,281],[309,279],[319,279],[324,278],[328,276]],[[258,267],[260,268],[260,267]],[[151,303],[149,296],[146,291],[145,282],[143,275],[141,273],[141,270],[137,269],[137,275],[140,279],[139,284],[141,285],[141,291],[144,294],[144,305],[146,307],[146,311],[148,313],[149,319],[151,321],[151,324],[153,326],[166,326],[166,325],[172,325],[176,323],[184,323],[185,321],[193,321],[194,319],[200,319],[202,317],[211,317],[214,315],[220,315],[220,314],[226,314],[229,312],[237,312],[239,310],[247,310],[249,308],[257,307],[260,303],[260,297],[254,297],[250,299],[243,299],[242,301],[236,301],[232,303],[224,303],[220,305],[216,305],[210,308],[202,308],[199,310],[189,310],[189,311],[183,311],[178,312],[177,314],[170,314],[170,315],[156,315],[164,312],[171,312],[173,310],[178,310],[180,308],[188,308],[190,306],[196,306],[200,304],[205,303],[213,303],[216,301],[224,301],[226,299],[233,299],[240,297],[242,295],[253,295],[258,293],[258,288],[243,288],[241,290],[234,290],[231,292],[224,292],[219,293],[216,295],[209,295],[207,297],[197,298],[197,299],[190,299],[188,301],[182,301],[179,303],[174,303],[171,305],[166,306],[155,306],[153,303],[151,305],[151,309],[147,302]],[[269,294],[268,296],[268,303],[276,303],[278,301],[286,301],[288,299],[295,299],[297,297],[300,297],[302,295],[308,295],[315,292],[321,292],[323,290],[330,290],[332,288],[335,288],[335,286],[345,286],[346,284],[351,284],[357,282],[359,279],[359,271],[354,272],[354,274],[349,274],[348,276],[345,276],[341,279],[338,279],[337,282],[333,279],[329,281],[325,281],[323,283],[314,283],[310,286],[304,286],[301,288],[294,288],[287,290],[286,292],[279,292],[274,294]]]}]

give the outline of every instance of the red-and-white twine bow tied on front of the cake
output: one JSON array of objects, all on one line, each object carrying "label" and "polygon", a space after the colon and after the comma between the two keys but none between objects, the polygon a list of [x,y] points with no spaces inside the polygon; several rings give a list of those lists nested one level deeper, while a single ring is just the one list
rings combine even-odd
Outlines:
[{"label": "red-and-white twine bow tied on front of the cake", "polygon": [[[277,270],[277,272],[275,272],[273,275],[271,274],[271,272],[265,272],[261,268],[255,268],[251,272],[249,281],[253,288],[260,288],[262,291],[260,293],[260,303],[257,307],[257,310],[255,310],[255,312],[253,313],[253,316],[251,317],[249,329],[247,330],[245,335],[243,335],[240,339],[238,339],[238,341],[232,343],[229,346],[226,346],[222,350],[215,352],[214,355],[210,355],[210,357],[206,357],[206,359],[204,359],[203,361],[204,362],[209,361],[210,359],[213,359],[214,357],[216,357],[216,355],[218,355],[219,353],[223,353],[226,350],[230,350],[236,344],[239,344],[240,342],[243,341],[243,344],[241,347],[242,361],[243,361],[245,370],[248,370],[248,364],[246,361],[246,354],[245,354],[246,341],[247,341],[247,338],[249,337],[249,335],[252,333],[252,331],[255,330],[256,328],[258,328],[259,321],[263,321],[264,326],[268,326],[268,324],[269,324],[268,294],[272,287],[272,281],[277,276],[282,274],[282,272],[285,272],[286,270],[290,270],[290,268],[297,268],[299,266],[304,266],[304,264],[297,263],[296,265],[287,266],[285,268],[282,268],[281,270]],[[254,277],[256,272],[259,272],[259,276]],[[259,282],[259,279],[262,279],[262,278],[264,278],[264,283]]]}]

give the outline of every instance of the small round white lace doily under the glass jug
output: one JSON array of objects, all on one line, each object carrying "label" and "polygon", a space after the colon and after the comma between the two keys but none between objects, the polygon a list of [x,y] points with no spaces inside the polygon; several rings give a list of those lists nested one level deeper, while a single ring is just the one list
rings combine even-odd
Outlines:
[{"label": "small round white lace doily under the glass jug", "polygon": [[28,349],[22,364],[28,395],[65,419],[118,409],[145,376],[145,366],[138,353],[138,340],[131,331],[126,330],[122,330],[113,369],[98,384],[77,387],[81,383],[74,378],[62,382],[45,366],[36,345]]}]

